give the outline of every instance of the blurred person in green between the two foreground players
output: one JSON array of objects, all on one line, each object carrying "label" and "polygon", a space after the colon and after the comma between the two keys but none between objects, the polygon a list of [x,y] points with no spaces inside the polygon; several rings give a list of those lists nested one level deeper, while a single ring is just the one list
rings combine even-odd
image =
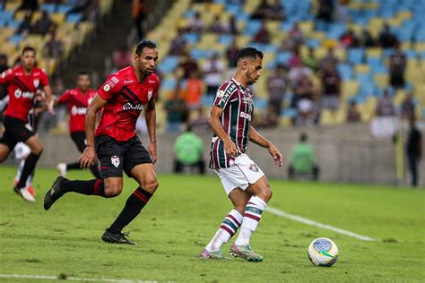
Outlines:
[{"label": "blurred person in green between the two foreground players", "polygon": [[204,145],[202,140],[187,127],[186,133],[182,133],[173,146],[176,159],[174,160],[174,172],[180,173],[184,167],[198,168],[199,173],[205,173],[205,164],[202,158]]}]

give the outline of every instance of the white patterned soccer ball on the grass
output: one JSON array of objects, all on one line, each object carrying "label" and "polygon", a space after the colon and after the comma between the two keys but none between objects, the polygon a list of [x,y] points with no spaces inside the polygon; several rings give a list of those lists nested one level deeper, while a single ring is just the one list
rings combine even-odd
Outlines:
[{"label": "white patterned soccer ball on the grass", "polygon": [[317,266],[332,266],[338,259],[338,247],[328,238],[317,238],[308,245],[308,259]]}]

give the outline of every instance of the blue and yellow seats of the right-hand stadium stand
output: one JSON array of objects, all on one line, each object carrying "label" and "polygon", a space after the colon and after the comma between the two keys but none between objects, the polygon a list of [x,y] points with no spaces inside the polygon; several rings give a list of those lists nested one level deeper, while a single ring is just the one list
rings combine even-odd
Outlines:
[{"label": "blue and yellow seats of the right-hand stadium stand", "polygon": [[[308,47],[313,47],[317,60],[321,61],[331,47],[338,61],[337,69],[343,78],[340,107],[336,111],[327,109],[320,111],[317,117],[318,124],[346,123],[345,117],[351,101],[357,103],[361,121],[369,121],[375,116],[377,99],[386,89],[389,90],[397,108],[400,108],[405,94],[412,90],[416,114],[420,117],[425,116],[425,29],[421,21],[421,14],[425,12],[425,3],[414,0],[352,0],[348,5],[348,20],[326,22],[317,19],[319,8],[317,1],[282,0],[278,2],[282,6],[285,18],[265,20],[265,26],[271,33],[270,43],[254,43],[253,37],[261,28],[262,21],[253,19],[252,15],[256,13],[262,1],[215,0],[206,3],[176,1],[160,25],[147,35],[148,39],[156,40],[160,47],[159,70],[163,74],[160,96],[167,98],[176,88],[179,57],[168,56],[167,52],[178,30],[183,30],[186,48],[201,65],[201,69],[207,58],[214,52],[219,52],[223,63],[228,65],[225,50],[234,38],[239,47],[249,45],[264,51],[263,79],[258,81],[254,89],[256,109],[260,112],[265,111],[268,100],[266,78],[272,73],[276,64],[288,64],[291,60],[293,48],[285,48],[285,45],[291,43],[293,38],[291,29],[294,23],[297,23],[302,33],[298,46],[301,57],[307,56]],[[268,1],[268,3],[273,5],[276,1]],[[201,32],[191,30],[191,23],[196,13],[200,14],[200,21],[204,27]],[[334,13],[336,14],[336,11]],[[209,27],[216,15],[220,15],[224,26],[230,17],[234,16],[238,34],[232,34],[230,31],[211,32]],[[266,19],[270,18],[272,17],[266,17]],[[389,34],[394,37],[395,42],[400,43],[406,57],[403,88],[395,89],[389,83],[390,60],[394,48],[381,47],[382,40],[385,40],[382,39],[382,31],[386,24],[389,27]],[[364,38],[368,35],[371,38]],[[319,105],[321,92],[319,77],[319,73],[314,73],[310,78],[317,89],[318,99],[314,101],[317,105]],[[226,77],[223,76],[223,79]],[[182,83],[185,81],[183,80]],[[289,90],[282,102],[279,123],[282,126],[292,125],[298,116],[298,109],[291,104],[291,98],[293,93]],[[208,98],[203,98],[202,101],[204,107],[208,107],[211,103],[211,99]],[[159,118],[162,121],[164,119],[161,116]]]}]

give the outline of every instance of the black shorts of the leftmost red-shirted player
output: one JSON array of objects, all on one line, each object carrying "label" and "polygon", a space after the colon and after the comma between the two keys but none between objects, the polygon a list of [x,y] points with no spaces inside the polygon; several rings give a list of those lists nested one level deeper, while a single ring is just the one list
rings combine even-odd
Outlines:
[{"label": "black shorts of the leftmost red-shirted player", "polygon": [[10,150],[13,150],[16,143],[27,142],[34,135],[25,122],[11,116],[4,116],[3,125],[4,133],[0,143],[7,145]]}]

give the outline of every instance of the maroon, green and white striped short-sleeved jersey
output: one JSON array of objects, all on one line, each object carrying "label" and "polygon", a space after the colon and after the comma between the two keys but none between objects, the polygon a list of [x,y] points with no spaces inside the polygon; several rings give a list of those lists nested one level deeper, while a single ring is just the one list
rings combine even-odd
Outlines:
[{"label": "maroon, green and white striped short-sleeved jersey", "polygon": [[[243,87],[235,79],[225,81],[214,98],[212,106],[221,107],[221,125],[240,153],[245,153],[248,144],[248,133],[254,111],[251,90]],[[230,159],[226,157],[224,143],[214,133],[210,151],[210,168],[230,167]]]}]

